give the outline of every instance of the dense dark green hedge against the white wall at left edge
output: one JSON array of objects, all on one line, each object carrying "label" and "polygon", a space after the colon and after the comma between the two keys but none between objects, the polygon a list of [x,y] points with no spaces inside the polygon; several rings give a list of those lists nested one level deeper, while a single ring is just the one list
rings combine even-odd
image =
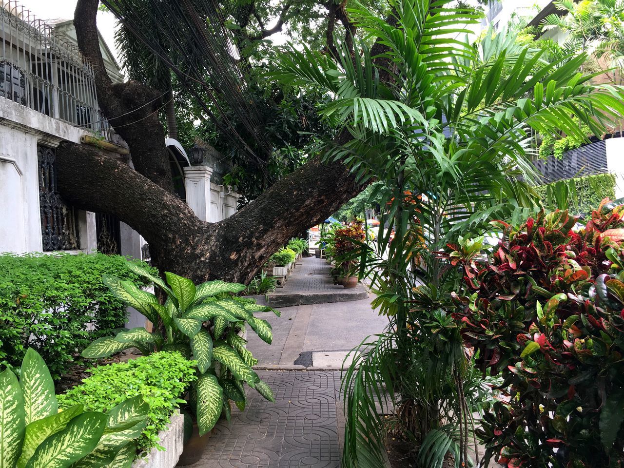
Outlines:
[{"label": "dense dark green hedge against the white wall at left edge", "polygon": [[58,379],[93,339],[124,326],[126,306],[102,275],[149,284],[126,265],[101,253],[0,255],[0,364],[19,366],[31,347]]}]

